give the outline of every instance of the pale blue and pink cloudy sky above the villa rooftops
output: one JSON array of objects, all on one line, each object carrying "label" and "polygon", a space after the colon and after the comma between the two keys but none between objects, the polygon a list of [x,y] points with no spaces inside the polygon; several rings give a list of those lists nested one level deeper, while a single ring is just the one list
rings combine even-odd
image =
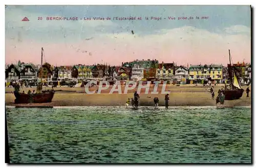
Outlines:
[{"label": "pale blue and pink cloudy sky above the villa rooftops", "polygon": [[[57,66],[121,65],[135,59],[226,66],[228,49],[233,63],[250,63],[250,15],[250,6],[8,6],[6,63],[40,64],[41,47],[43,60]],[[21,21],[25,16],[30,21]],[[78,20],[46,20],[47,16]],[[116,16],[142,20],[113,20]],[[151,20],[154,16],[161,20]],[[183,16],[194,19],[178,20]]]}]

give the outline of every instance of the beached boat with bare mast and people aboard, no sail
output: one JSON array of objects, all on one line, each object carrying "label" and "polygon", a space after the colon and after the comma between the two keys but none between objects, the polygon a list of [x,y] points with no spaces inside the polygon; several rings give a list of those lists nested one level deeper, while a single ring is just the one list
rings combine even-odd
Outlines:
[{"label": "beached boat with bare mast and people aboard, no sail", "polygon": [[19,103],[49,103],[52,102],[52,98],[54,96],[54,90],[46,90],[42,91],[42,52],[44,49],[41,49],[41,81],[37,85],[37,93],[30,93],[30,94],[25,94],[25,93],[19,93],[19,85],[14,86],[14,96],[15,104]]}]

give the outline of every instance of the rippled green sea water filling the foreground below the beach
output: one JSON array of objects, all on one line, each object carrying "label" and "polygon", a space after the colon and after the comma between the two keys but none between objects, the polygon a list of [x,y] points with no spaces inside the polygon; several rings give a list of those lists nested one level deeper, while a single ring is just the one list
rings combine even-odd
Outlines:
[{"label": "rippled green sea water filling the foreground below the beach", "polygon": [[251,108],[6,108],[11,163],[251,163]]}]

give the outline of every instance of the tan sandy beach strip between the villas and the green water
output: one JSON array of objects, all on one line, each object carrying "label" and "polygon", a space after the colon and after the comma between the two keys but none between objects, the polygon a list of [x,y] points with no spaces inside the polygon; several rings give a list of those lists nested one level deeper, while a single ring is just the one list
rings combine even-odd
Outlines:
[{"label": "tan sandy beach strip between the villas and the green water", "polygon": [[[221,86],[215,86],[215,95]],[[243,87],[246,90],[247,87]],[[24,88],[25,92],[35,88]],[[50,88],[46,88],[50,89]],[[93,91],[95,88],[90,88]],[[149,94],[144,94],[145,89],[141,90],[139,105],[153,106],[153,98],[158,96],[159,106],[164,106],[164,94],[161,94],[161,87],[158,87],[159,94],[150,94],[154,87],[150,88]],[[11,106],[123,106],[127,98],[132,98],[136,89],[129,90],[127,94],[109,94],[111,87],[108,90],[103,90],[100,94],[86,94],[84,88],[54,88],[54,90],[62,90],[56,92],[51,103],[34,103],[34,104],[14,104],[15,96],[11,93],[13,88],[6,88],[6,105]],[[76,91],[76,92],[65,92]],[[124,86],[122,86],[122,93]],[[169,106],[215,106],[216,100],[211,99],[211,95],[206,91],[206,87],[202,86],[167,86],[165,91],[170,91]],[[225,100],[225,106],[250,106],[251,95],[243,96],[238,100]]]}]

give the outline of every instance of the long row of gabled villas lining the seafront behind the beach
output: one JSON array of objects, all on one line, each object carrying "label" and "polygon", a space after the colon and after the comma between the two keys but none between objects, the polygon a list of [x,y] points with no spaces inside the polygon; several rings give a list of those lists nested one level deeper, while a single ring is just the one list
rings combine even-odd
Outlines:
[{"label": "long row of gabled villas lining the seafront behind the beach", "polygon": [[[239,77],[245,81],[251,78],[251,65],[243,63],[233,64],[239,69]],[[42,71],[41,71],[42,68]],[[42,72],[42,74],[41,74]],[[228,69],[223,65],[190,65],[177,66],[173,63],[159,63],[157,60],[134,60],[122,63],[121,66],[106,64],[52,66],[45,63],[35,66],[32,63],[6,65],[6,80],[34,80],[44,82],[74,79],[100,80],[172,80],[177,83],[201,83],[211,78],[216,83],[228,79]]]}]

